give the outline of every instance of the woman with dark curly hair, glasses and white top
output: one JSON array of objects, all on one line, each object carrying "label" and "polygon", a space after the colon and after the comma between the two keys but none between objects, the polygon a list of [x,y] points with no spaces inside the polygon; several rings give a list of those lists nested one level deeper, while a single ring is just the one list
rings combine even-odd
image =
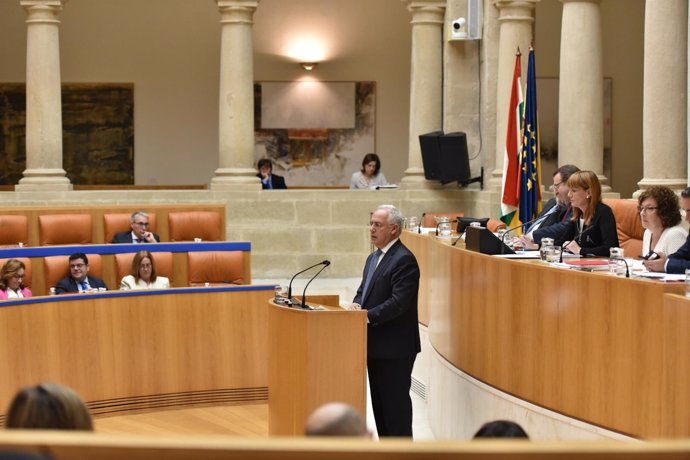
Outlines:
[{"label": "woman with dark curly hair, glasses and white top", "polygon": [[688,232],[680,225],[678,197],[668,187],[653,186],[638,198],[637,210],[642,226],[642,256],[653,260],[660,254],[673,254],[685,243]]}]

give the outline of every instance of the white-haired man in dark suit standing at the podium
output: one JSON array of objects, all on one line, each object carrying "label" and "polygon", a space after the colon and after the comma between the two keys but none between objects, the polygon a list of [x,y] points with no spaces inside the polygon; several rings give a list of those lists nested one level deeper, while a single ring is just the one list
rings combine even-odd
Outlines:
[{"label": "white-haired man in dark suit standing at the podium", "polygon": [[417,321],[419,266],[400,241],[403,217],[391,205],[371,216],[371,242],[363,280],[350,309],[364,308],[369,322],[367,371],[376,429],[383,436],[412,436],[412,366],[421,350]]}]

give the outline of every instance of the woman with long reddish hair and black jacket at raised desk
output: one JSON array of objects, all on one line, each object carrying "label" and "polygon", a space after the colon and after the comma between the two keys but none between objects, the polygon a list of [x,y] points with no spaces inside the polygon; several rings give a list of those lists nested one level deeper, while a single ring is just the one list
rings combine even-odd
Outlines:
[{"label": "woman with long reddish hair and black jacket at raised desk", "polygon": [[618,247],[616,218],[601,201],[601,184],[592,171],[577,171],[568,178],[573,217],[556,244],[582,256],[608,256]]}]

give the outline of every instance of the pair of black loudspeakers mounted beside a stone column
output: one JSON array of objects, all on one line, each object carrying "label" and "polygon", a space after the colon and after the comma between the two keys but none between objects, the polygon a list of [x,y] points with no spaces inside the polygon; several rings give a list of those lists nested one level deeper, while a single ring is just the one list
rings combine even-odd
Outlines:
[{"label": "pair of black loudspeakers mounted beside a stone column", "polygon": [[457,181],[462,185],[471,181],[465,133],[443,134],[442,131],[434,131],[422,134],[419,136],[419,146],[426,180],[437,180],[443,184]]}]

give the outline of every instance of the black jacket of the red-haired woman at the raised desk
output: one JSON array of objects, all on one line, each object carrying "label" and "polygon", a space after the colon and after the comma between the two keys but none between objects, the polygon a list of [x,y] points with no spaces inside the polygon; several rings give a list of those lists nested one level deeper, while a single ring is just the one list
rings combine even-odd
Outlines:
[{"label": "black jacket of the red-haired woman at the raised desk", "polygon": [[616,231],[616,218],[613,211],[604,203],[599,203],[594,211],[592,223],[586,225],[581,233],[578,232],[577,223],[568,222],[565,231],[554,238],[554,243],[563,245],[566,241],[575,240],[582,251],[580,254],[592,254],[595,256],[608,256],[609,249],[618,247],[618,232]]}]

